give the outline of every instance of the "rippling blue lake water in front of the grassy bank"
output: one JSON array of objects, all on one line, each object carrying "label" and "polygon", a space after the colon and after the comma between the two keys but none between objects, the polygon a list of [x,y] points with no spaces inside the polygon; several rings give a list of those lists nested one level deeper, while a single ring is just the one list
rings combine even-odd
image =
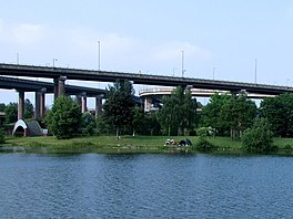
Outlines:
[{"label": "rippling blue lake water in front of the grassy bank", "polygon": [[293,218],[293,158],[0,154],[0,218]]}]

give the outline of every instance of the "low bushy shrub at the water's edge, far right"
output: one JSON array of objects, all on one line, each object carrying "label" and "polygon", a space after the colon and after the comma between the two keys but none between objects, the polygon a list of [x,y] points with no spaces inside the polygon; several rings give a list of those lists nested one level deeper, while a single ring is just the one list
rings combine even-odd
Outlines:
[{"label": "low bushy shrub at the water's edge, far right", "polygon": [[242,143],[249,152],[271,152],[274,149],[273,133],[269,119],[256,118],[253,127],[244,132]]}]

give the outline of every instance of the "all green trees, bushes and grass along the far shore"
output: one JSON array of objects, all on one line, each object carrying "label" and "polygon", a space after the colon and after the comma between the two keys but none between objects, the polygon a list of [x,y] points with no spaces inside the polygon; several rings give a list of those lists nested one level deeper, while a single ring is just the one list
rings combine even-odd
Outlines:
[{"label": "all green trees, bushes and grass along the far shore", "polygon": [[[44,119],[57,138],[10,138],[6,140],[7,145],[103,153],[176,149],[293,154],[293,140],[284,138],[293,137],[293,94],[265,98],[259,108],[245,93],[214,94],[202,106],[192,97],[189,87],[179,86],[171,95],[163,96],[162,103],[153,103],[159,111],[148,113],[135,105],[133,95],[129,81],[117,81],[109,86],[103,113],[98,117],[90,113],[81,115],[78,103],[62,96]],[[28,101],[26,105],[28,116],[31,116],[32,105]],[[200,113],[196,107],[201,107]],[[10,103],[3,108],[6,121],[16,122],[17,104]],[[179,137],[184,135],[192,140],[191,147],[163,146],[166,138],[179,142],[185,139]],[[79,138],[74,138],[77,136]]]}]

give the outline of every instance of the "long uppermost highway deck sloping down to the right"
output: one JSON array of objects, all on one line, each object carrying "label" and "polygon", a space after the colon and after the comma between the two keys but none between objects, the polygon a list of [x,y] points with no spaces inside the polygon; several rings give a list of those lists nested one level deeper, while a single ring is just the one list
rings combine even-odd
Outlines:
[{"label": "long uppermost highway deck sloping down to the right", "polygon": [[293,87],[267,84],[202,80],[192,77],[174,77],[140,73],[79,70],[68,67],[30,66],[17,64],[0,64],[0,75],[48,77],[54,79],[55,83],[58,83],[59,79],[97,82],[114,82],[115,80],[129,80],[135,84],[160,86],[182,85],[192,86],[193,88],[219,90],[230,92],[240,92],[244,90],[247,93],[267,95],[279,95],[286,92],[293,92]]}]

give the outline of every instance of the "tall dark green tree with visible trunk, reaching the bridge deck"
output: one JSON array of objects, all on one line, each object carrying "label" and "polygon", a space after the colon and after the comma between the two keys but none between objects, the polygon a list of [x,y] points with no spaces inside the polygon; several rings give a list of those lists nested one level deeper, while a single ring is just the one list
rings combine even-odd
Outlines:
[{"label": "tall dark green tree with visible trunk, reaching the bridge deck", "polygon": [[103,105],[103,118],[117,129],[117,137],[123,126],[131,126],[133,121],[134,90],[129,81],[118,80],[107,90],[107,100]]}]

